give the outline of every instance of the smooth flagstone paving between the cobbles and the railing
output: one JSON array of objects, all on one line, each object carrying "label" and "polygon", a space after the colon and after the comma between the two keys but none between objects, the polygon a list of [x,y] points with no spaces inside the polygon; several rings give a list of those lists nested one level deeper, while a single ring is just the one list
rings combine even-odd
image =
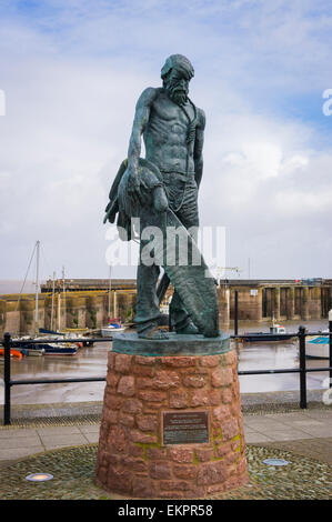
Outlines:
[{"label": "smooth flagstone paving between the cobbles and the railing", "polygon": [[[30,418],[30,425],[16,421],[14,425],[0,426],[0,465],[36,453],[98,442],[97,413],[62,421],[58,418],[58,422],[62,425],[47,425],[44,420]],[[248,444],[284,449],[332,464],[331,408],[244,413],[243,423]]]}]

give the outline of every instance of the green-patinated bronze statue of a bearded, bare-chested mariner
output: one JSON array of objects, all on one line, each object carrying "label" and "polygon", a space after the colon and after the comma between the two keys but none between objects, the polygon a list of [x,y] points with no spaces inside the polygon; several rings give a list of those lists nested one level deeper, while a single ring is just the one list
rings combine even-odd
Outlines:
[{"label": "green-patinated bronze statue of a bearded, bare-chested mariner", "polygon": [[[114,222],[118,215],[117,225],[124,240],[133,237],[132,219],[140,219],[134,322],[138,335],[144,339],[163,340],[169,335],[158,328],[160,301],[169,282],[174,288],[170,304],[173,330],[178,334],[219,335],[217,289],[197,247],[205,116],[188,97],[193,76],[191,62],[182,54],[172,54],[161,70],[162,87],[150,87],[140,96],[128,160],[122,162],[112,184],[104,218],[104,222]],[[145,159],[140,158],[142,135]],[[151,251],[147,257],[151,237],[144,231],[151,227],[161,230],[163,240],[154,244],[154,257]],[[173,230],[182,242],[177,243],[180,247],[175,261],[170,262],[167,238]],[[183,238],[188,263],[180,262]],[[164,274],[157,287],[160,265]]]}]

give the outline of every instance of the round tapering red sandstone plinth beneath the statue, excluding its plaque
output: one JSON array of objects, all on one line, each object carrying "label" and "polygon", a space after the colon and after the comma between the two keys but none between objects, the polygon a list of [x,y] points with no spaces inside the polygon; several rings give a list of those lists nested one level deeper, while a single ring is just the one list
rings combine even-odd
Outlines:
[{"label": "round tapering red sandstone plinth beneath the statue, excluding its plaque", "polygon": [[[162,443],[162,414],[207,411],[209,442]],[[109,353],[97,484],[132,498],[202,498],[248,482],[237,353]]]}]

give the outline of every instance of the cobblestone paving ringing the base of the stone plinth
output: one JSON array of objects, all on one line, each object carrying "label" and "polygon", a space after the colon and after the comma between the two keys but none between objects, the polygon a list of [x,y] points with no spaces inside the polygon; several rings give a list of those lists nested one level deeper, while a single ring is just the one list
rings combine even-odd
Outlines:
[{"label": "cobblestone paving ringing the base of the stone plinth", "polygon": [[[93,483],[97,444],[61,449],[34,455],[0,469],[2,500],[115,500]],[[264,459],[289,461],[286,466],[268,466]],[[229,500],[328,500],[332,498],[332,468],[314,459],[285,450],[248,446],[250,483],[238,490],[211,496]],[[30,473],[51,473],[42,483],[26,480]]]}]

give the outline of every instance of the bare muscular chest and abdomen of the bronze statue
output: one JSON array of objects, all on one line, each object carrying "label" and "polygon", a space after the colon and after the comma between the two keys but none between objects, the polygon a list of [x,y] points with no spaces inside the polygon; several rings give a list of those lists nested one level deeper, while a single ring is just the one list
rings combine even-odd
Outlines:
[{"label": "bare muscular chest and abdomen of the bronze statue", "polygon": [[189,121],[184,111],[170,100],[163,89],[155,91],[143,133],[147,160],[157,164],[161,171],[194,172],[194,140],[190,147],[187,144],[189,124],[195,117],[194,109],[190,102],[184,104]]}]

